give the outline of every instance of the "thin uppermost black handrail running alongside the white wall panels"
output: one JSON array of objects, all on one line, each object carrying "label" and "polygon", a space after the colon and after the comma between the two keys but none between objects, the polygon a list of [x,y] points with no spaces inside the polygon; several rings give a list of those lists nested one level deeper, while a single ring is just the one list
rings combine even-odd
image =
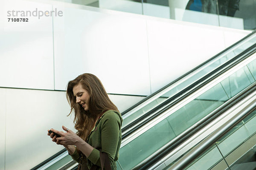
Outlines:
[{"label": "thin uppermost black handrail running alongside the white wall panels", "polygon": [[166,88],[168,88],[170,85],[173,85],[175,82],[180,81],[180,79],[183,79],[184,77],[188,76],[189,74],[191,74],[192,72],[196,71],[198,68],[203,67],[204,65],[206,65],[208,62],[211,62],[213,59],[215,59],[216,57],[220,56],[221,54],[223,54],[224,52],[230,50],[231,48],[233,48],[234,46],[238,45],[239,43],[243,42],[244,40],[246,40],[247,38],[249,38],[251,35],[255,34],[256,31],[253,31],[252,33],[248,34],[247,36],[245,36],[244,38],[242,38],[241,40],[239,40],[238,42],[234,43],[233,45],[230,45],[228,48],[224,49],[223,51],[219,52],[218,54],[216,54],[215,56],[213,56],[212,58],[208,59],[207,61],[203,62],[202,64],[198,65],[197,67],[193,68],[192,70],[190,70],[189,72],[187,72],[186,74],[182,75],[181,77],[175,79],[173,82],[169,83],[168,85],[164,86],[163,88],[160,88],[158,91],[154,92],[153,94],[147,96],[146,98],[144,98],[143,100],[141,100],[140,102],[138,102],[137,104],[131,106],[130,108],[126,109],[125,111],[122,112],[122,116],[124,116],[126,113],[128,113],[129,111],[133,110],[134,108],[136,108],[137,106],[141,105],[143,102],[145,102],[146,100],[150,99],[152,96],[155,96],[156,94],[160,93],[161,91],[165,90]]}]

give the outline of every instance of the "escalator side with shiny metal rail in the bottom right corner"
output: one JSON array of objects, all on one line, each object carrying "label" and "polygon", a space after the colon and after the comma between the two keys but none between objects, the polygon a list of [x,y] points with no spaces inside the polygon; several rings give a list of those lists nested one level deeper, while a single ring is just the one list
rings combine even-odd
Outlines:
[{"label": "escalator side with shiny metal rail in the bottom right corner", "polygon": [[255,170],[256,88],[233,111],[237,113],[165,169]]}]

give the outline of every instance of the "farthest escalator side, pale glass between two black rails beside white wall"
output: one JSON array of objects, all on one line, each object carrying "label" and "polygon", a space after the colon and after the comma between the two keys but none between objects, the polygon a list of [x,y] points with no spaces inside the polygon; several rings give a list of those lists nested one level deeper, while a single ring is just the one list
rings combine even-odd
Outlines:
[{"label": "farthest escalator side, pale glass between two black rails beside white wall", "polygon": [[255,37],[256,32],[249,34],[236,44],[221,51],[221,53],[122,113],[124,119],[122,125],[123,138],[159,116],[163,108],[172,107],[205,85],[207,81],[210,81],[209,73],[214,74],[217,68],[221,68],[221,65],[230,62],[230,60],[253,45],[256,40]]}]

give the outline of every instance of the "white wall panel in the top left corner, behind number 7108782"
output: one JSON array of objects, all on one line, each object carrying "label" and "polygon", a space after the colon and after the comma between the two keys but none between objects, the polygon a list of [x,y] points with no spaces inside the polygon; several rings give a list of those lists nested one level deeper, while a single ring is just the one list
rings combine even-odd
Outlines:
[{"label": "white wall panel in the top left corner, behind number 7108782", "polygon": [[[52,17],[8,22],[7,11],[50,11],[52,5],[23,0],[1,1],[0,86],[54,89]],[[11,17],[10,17],[11,18]],[[17,18],[17,17],[13,17]],[[2,21],[3,22],[3,21]]]}]

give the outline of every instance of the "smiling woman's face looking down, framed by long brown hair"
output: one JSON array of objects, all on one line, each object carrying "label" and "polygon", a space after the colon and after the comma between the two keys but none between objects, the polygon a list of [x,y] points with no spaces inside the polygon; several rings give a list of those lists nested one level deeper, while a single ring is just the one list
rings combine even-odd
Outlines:
[{"label": "smiling woman's face looking down, framed by long brown hair", "polygon": [[85,111],[88,111],[90,95],[86,90],[82,88],[81,84],[78,84],[73,87],[73,94],[76,97],[76,103],[81,105]]}]

